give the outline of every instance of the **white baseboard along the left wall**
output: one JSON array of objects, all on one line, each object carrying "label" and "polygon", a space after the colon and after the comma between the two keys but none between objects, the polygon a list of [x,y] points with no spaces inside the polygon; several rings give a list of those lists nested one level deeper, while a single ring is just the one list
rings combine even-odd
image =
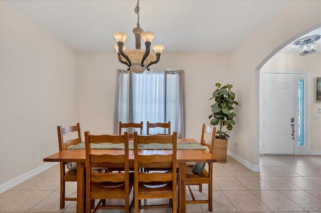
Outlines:
[{"label": "white baseboard along the left wall", "polygon": [[20,183],[36,176],[37,174],[40,174],[41,172],[47,170],[48,168],[56,165],[58,162],[47,162],[35,169],[32,169],[12,180],[9,180],[8,182],[5,182],[0,185],[0,194],[4,193],[5,191],[8,191],[9,189],[19,185]]}]

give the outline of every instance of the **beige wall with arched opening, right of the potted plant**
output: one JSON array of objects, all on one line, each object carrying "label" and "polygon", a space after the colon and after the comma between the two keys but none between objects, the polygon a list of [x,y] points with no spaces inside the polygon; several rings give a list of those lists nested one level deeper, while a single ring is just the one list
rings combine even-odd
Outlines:
[{"label": "beige wall with arched opening, right of the potted plant", "polygon": [[[228,149],[256,168],[259,165],[259,69],[290,41],[320,26],[320,9],[319,0],[291,1],[229,55],[230,81],[240,105],[237,107],[237,125],[231,135],[233,142]],[[235,141],[238,148],[234,146]]]}]

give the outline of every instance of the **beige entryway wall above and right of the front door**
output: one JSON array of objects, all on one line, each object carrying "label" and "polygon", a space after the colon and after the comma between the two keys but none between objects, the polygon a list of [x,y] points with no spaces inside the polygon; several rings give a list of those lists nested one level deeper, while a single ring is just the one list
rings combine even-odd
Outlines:
[{"label": "beige entryway wall above and right of the front door", "polygon": [[[314,77],[321,76],[321,54],[314,53],[310,55],[301,56],[297,53],[277,53],[270,60],[268,60],[261,70],[286,70],[286,71],[310,71],[311,73],[311,95],[310,102],[305,104],[305,107],[309,107],[311,110],[311,134],[310,150],[321,151],[321,113],[317,113],[316,108],[321,107],[321,103],[313,102],[313,83]],[[312,119],[312,116],[316,114],[318,119]]]}]

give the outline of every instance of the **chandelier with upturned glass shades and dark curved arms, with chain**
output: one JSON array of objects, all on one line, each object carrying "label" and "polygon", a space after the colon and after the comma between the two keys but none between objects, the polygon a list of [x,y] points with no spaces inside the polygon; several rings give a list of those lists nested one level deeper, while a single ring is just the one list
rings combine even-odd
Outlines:
[{"label": "chandelier with upturned glass shades and dark curved arms, with chain", "polygon": [[[141,73],[144,72],[145,69],[149,70],[148,67],[150,65],[159,61],[164,46],[161,44],[155,44],[152,46],[155,53],[150,52],[150,44],[155,34],[148,31],[144,32],[144,30],[139,27],[139,0],[137,0],[137,5],[134,10],[137,14],[137,27],[133,28],[132,32],[135,34],[136,38],[136,49],[125,50],[126,46],[124,45],[124,42],[128,36],[124,32],[113,33],[117,41],[114,48],[118,54],[119,62],[128,66],[127,70],[131,69],[131,71],[135,73]],[[140,49],[141,37],[145,42],[145,50]]]}]

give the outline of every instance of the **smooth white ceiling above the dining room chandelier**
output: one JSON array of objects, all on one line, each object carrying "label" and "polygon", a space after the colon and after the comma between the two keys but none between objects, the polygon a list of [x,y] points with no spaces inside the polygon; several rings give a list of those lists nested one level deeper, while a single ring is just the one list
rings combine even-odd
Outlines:
[{"label": "smooth white ceiling above the dining room chandelier", "polygon": [[[137,22],[136,0],[6,2],[75,50],[113,51],[114,31],[126,32],[125,45],[134,48],[131,30]],[[145,31],[155,33],[152,44],[165,45],[164,51],[228,52],[289,2],[140,0],[139,23]]]}]

